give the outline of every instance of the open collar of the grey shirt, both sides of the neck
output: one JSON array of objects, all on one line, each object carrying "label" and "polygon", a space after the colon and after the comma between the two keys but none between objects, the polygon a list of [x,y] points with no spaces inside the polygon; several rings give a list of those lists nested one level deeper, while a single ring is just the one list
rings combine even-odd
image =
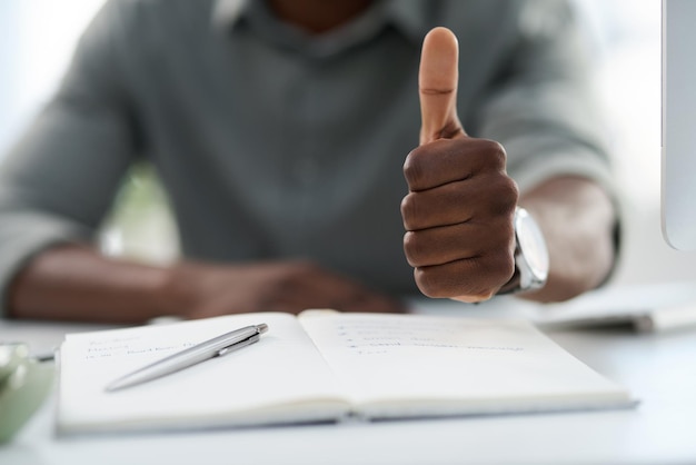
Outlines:
[{"label": "open collar of the grey shirt, both sides of the neck", "polygon": [[[245,16],[250,13],[251,0],[213,0],[212,22],[217,27],[233,29]],[[256,0],[262,1],[262,0]],[[408,39],[420,46],[429,30],[428,0],[377,0],[380,8],[372,8],[369,14],[379,16],[382,26],[392,24]]]}]

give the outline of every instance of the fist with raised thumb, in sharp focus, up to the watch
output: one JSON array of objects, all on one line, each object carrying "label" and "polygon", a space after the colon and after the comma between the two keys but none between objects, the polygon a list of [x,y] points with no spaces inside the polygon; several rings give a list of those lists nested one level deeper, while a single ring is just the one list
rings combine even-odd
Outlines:
[{"label": "fist with raised thumb, in sharp focus, up to the watch", "polygon": [[459,121],[458,55],[448,29],[426,36],[418,77],[420,146],[404,165],[404,250],[425,295],[479,301],[515,271],[518,191],[503,146],[468,137]]}]

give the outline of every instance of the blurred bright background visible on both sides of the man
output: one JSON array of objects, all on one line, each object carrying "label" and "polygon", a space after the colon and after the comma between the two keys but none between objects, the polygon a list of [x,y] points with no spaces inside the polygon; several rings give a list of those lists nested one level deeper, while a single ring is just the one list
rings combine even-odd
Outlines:
[{"label": "blurred bright background visible on both sides of the man", "polygon": [[[0,1],[0,164],[54,91],[76,40],[102,3]],[[696,253],[670,249],[660,231],[660,1],[575,3],[596,48],[593,78],[625,198],[624,254],[613,283],[695,280]],[[177,258],[176,226],[150,167],[133,167],[125,180],[101,244],[108,254],[142,260]]]}]

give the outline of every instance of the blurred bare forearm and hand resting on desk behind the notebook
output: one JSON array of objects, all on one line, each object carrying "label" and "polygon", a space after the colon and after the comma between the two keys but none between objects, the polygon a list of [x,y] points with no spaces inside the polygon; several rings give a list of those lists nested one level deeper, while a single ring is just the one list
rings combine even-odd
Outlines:
[{"label": "blurred bare forearm and hand resting on desk behind the notebook", "polygon": [[9,316],[145,323],[159,316],[203,318],[306,308],[400,311],[401,304],[318,265],[274,261],[167,268],[101,256],[90,247],[47,249],[12,283]]}]

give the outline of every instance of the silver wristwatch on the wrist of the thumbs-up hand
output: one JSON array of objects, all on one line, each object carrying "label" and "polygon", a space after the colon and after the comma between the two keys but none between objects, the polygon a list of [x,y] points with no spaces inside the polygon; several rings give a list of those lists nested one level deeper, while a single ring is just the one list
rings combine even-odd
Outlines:
[{"label": "silver wristwatch on the wrist of the thumbs-up hand", "polygon": [[515,275],[498,294],[539,289],[548,277],[548,249],[535,219],[521,207],[515,209]]}]

